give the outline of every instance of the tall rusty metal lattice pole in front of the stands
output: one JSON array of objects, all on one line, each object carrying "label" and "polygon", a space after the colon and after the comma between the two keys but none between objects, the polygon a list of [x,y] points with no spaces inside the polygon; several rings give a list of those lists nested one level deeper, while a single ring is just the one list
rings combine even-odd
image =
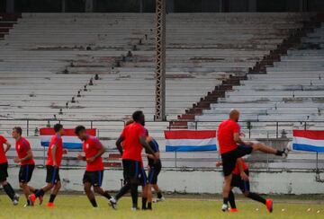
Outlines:
[{"label": "tall rusty metal lattice pole in front of the stands", "polygon": [[155,120],[166,120],[166,0],[156,3],[156,111]]}]

